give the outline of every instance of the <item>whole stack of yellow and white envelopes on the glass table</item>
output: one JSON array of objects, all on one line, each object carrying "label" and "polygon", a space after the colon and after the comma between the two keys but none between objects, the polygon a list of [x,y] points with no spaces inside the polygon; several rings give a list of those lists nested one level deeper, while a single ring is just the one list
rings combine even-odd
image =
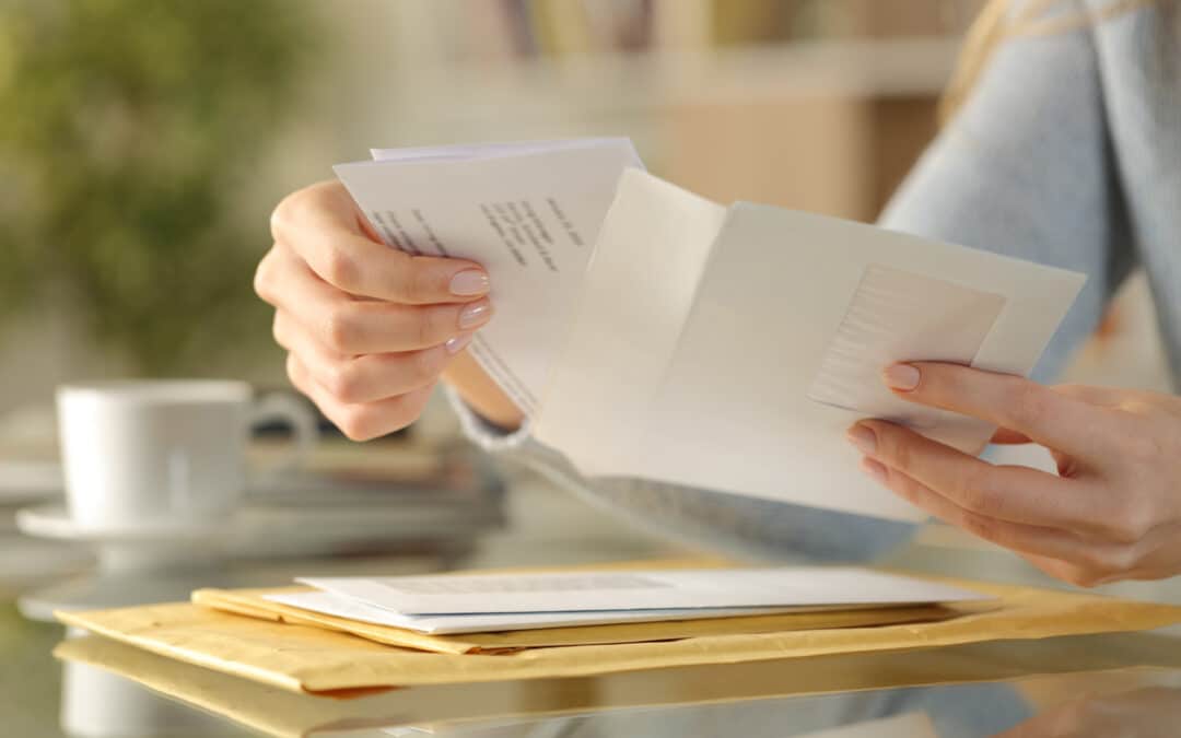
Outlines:
[{"label": "whole stack of yellow and white envelopes on the glass table", "polygon": [[299,692],[576,677],[1150,629],[1181,607],[848,568],[307,580],[59,618]]}]

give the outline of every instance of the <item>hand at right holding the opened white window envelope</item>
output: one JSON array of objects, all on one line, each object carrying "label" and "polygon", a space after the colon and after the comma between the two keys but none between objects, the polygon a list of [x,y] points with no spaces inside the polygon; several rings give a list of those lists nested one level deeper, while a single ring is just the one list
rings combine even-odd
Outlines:
[{"label": "hand at right holding the opened white window envelope", "polygon": [[898,364],[903,399],[983,418],[993,443],[1037,443],[1058,476],[1000,466],[885,420],[849,440],[862,469],[935,517],[1091,587],[1181,573],[1181,398],[1105,387],[1046,387],[951,364]]}]

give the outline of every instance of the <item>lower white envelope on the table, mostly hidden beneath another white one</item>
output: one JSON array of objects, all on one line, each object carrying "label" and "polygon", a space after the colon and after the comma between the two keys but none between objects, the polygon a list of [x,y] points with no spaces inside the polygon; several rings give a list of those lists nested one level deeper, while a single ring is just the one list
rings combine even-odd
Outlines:
[{"label": "lower white envelope on the table, mostly hidden beneath another white one", "polygon": [[830,608],[694,608],[645,610],[586,610],[576,613],[490,613],[476,615],[404,615],[394,610],[367,605],[360,600],[331,592],[291,592],[262,595],[272,602],[291,605],[314,613],[346,618],[358,622],[407,628],[436,635],[459,633],[494,633],[529,631],[566,626],[594,626],[620,622],[659,622],[661,620],[699,620],[702,618],[735,618],[739,615],[774,615]]}]

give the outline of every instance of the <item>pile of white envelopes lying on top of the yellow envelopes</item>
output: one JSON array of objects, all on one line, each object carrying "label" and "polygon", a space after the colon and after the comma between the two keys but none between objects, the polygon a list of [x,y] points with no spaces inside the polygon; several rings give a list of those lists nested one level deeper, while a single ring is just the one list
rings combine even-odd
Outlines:
[{"label": "pile of white envelopes lying on top of the yellow envelopes", "polygon": [[488,633],[988,600],[968,589],[855,568],[672,569],[304,579],[266,594],[313,613],[419,633]]}]

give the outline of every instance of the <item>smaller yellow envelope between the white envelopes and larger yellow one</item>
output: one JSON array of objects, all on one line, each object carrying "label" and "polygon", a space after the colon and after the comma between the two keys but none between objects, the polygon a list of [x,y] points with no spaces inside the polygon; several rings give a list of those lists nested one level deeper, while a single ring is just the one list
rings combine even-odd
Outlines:
[{"label": "smaller yellow envelope between the white envelopes and larger yellow one", "polygon": [[605,644],[635,644],[680,640],[704,635],[738,635],[751,633],[785,633],[790,631],[820,631],[824,628],[857,628],[900,622],[946,620],[968,612],[997,607],[996,602],[965,602],[957,606],[926,605],[916,607],[866,608],[853,610],[779,613],[775,615],[745,615],[740,618],[703,618],[697,620],[665,620],[602,626],[568,626],[534,628],[500,633],[464,633],[462,635],[431,635],[407,628],[359,622],[322,613],[272,602],[262,595],[280,592],[308,592],[311,587],[274,589],[198,589],[193,602],[236,615],[287,622],[351,633],[387,646],[404,646],[438,653],[507,653],[523,648],[554,646],[589,646]]}]

